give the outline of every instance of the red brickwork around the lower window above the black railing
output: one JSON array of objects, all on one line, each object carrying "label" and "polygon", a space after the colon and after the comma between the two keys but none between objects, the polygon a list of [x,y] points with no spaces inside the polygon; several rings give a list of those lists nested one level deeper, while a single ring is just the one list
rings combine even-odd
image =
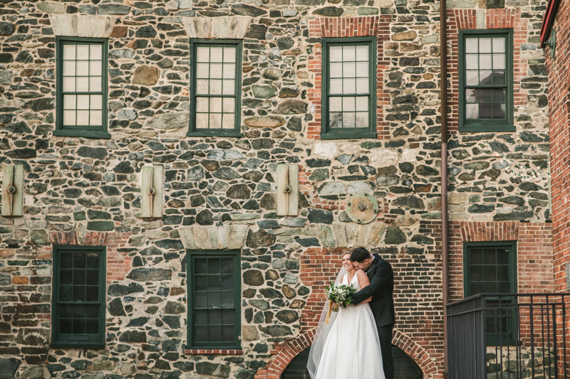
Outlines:
[{"label": "red brickwork around the lower window above the black railing", "polygon": [[516,240],[518,292],[554,291],[549,223],[452,221],[449,240],[451,301],[463,299],[463,242]]}]

